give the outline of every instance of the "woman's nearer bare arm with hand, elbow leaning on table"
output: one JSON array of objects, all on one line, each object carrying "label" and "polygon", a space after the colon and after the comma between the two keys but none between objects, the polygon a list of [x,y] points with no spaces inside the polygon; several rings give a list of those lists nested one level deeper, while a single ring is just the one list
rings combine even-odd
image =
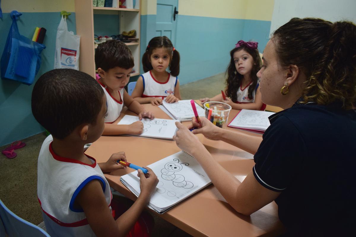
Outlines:
[{"label": "woman's nearer bare arm with hand, elbow leaning on table", "polygon": [[269,190],[258,183],[252,171],[243,182],[240,182],[211,156],[197,136],[184,125],[177,123],[176,125],[179,130],[173,139],[177,146],[194,156],[214,186],[236,211],[251,215],[279,196],[279,192]]}]

